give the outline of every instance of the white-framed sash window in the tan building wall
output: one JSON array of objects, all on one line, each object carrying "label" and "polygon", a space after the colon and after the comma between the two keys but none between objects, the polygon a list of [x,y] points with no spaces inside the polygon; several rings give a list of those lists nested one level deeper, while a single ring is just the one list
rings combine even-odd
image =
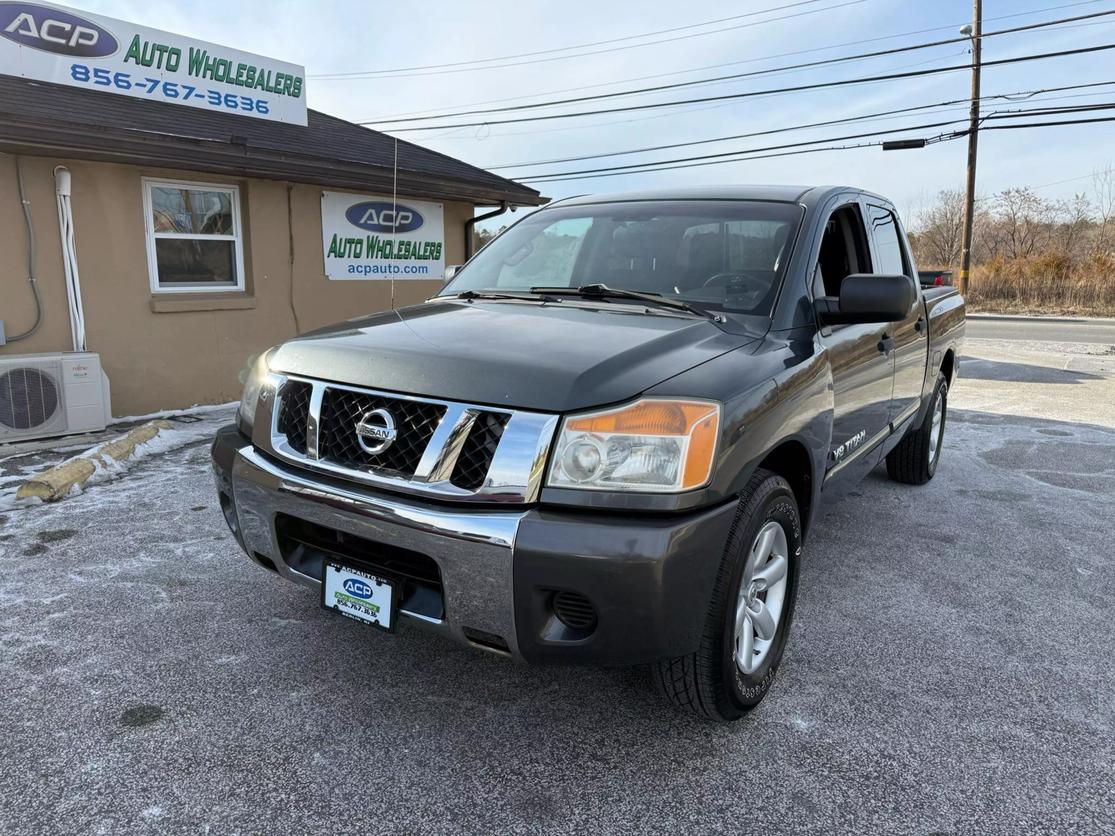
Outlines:
[{"label": "white-framed sash window in the tan building wall", "polygon": [[144,179],[153,293],[244,290],[240,189]]}]

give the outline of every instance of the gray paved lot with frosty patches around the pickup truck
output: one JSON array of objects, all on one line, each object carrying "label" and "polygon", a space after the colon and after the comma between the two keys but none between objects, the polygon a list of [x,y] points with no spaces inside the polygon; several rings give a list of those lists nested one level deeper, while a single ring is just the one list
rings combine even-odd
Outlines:
[{"label": "gray paved lot with frosty patches around the pickup truck", "polygon": [[1115,349],[968,348],[937,478],[830,508],[731,726],[330,615],[204,445],[0,515],[0,833],[1111,832]]}]

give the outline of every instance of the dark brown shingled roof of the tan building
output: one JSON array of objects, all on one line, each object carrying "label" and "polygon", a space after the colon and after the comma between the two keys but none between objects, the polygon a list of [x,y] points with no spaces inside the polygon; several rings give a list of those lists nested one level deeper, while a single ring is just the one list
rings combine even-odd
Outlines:
[{"label": "dark brown shingled roof of the tan building", "polygon": [[420,145],[309,111],[307,126],[0,76],[0,149],[536,206],[535,189]]}]

